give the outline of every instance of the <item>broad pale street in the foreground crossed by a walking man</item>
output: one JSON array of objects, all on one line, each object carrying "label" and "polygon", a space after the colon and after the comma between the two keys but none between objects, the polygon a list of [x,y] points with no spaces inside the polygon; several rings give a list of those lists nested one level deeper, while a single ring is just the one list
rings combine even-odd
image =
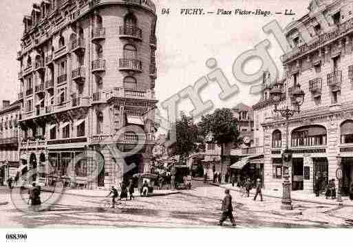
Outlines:
[{"label": "broad pale street in the foreground crossed by a walking man", "polygon": [[[3,227],[63,228],[63,227],[193,227],[213,228],[220,217],[224,189],[217,186],[200,186],[191,191],[160,197],[137,197],[123,202],[117,208],[104,209],[105,197],[62,195],[50,209],[40,213],[23,213],[10,201],[7,189],[1,188],[0,224]],[[254,202],[232,191],[238,228],[339,228],[353,226],[353,208],[293,202],[298,216],[281,216],[272,213],[280,200],[265,197],[264,202]],[[52,196],[43,193],[42,200]],[[25,201],[25,200],[24,200]],[[23,203],[23,202],[22,202]],[[25,204],[25,203],[23,203]],[[17,204],[18,206],[19,204]],[[24,205],[27,207],[26,205]],[[230,226],[230,222],[225,223]]]}]

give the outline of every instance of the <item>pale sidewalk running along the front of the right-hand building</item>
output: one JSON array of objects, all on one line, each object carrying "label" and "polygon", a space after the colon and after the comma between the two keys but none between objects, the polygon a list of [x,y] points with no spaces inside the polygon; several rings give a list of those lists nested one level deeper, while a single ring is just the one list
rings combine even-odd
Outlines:
[{"label": "pale sidewalk running along the front of the right-hand building", "polygon": [[[213,183],[211,183],[213,184]],[[232,191],[238,191],[237,187],[233,187],[232,184],[213,184],[214,186],[219,186],[224,189],[231,189]],[[255,195],[254,189],[250,191],[251,195]],[[268,189],[262,189],[262,195],[265,197],[273,197],[273,198],[282,198],[282,190],[273,191]],[[303,191],[291,191],[291,197],[293,201],[299,202],[312,202],[317,204],[326,204],[326,205],[337,205],[339,206],[340,202],[337,202],[336,199],[326,199],[325,195],[320,195],[320,197],[316,197],[314,193],[304,193]],[[353,206],[353,201],[349,200],[348,197],[342,197],[341,204],[343,206]]]}]

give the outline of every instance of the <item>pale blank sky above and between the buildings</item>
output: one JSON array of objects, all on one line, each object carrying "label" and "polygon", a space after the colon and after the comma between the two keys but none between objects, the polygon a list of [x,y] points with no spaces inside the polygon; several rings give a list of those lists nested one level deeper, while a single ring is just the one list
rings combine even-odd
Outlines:
[{"label": "pale blank sky above and between the buildings", "polygon": [[[266,34],[262,27],[277,20],[282,28],[293,18],[299,19],[308,12],[310,0],[155,0],[158,14],[158,50],[156,97],[161,102],[180,92],[189,85],[206,76],[211,69],[206,67],[208,58],[215,58],[217,65],[231,84],[237,84],[239,94],[228,100],[220,100],[221,89],[217,83],[209,82],[200,95],[202,100],[211,100],[215,107],[234,107],[237,103],[254,105],[259,95],[250,95],[249,86],[235,80],[232,67],[237,56],[254,49],[254,46],[268,39],[271,43],[270,55],[281,70],[279,57],[283,52],[274,36]],[[23,15],[30,13],[33,0],[1,0],[0,3],[0,100],[16,100],[19,89],[17,80],[19,62],[16,60],[20,50],[23,32]],[[161,14],[162,8],[169,8],[169,14]],[[217,12],[218,9],[265,10],[284,12],[292,10],[296,15],[272,15],[268,17],[247,17],[235,15],[206,14],[186,16],[180,14],[182,8],[204,8],[204,11]],[[244,66],[244,72],[253,74],[261,67],[258,59]],[[193,109],[187,98],[180,101],[178,109],[190,112]],[[165,114],[165,111],[162,111]]]}]

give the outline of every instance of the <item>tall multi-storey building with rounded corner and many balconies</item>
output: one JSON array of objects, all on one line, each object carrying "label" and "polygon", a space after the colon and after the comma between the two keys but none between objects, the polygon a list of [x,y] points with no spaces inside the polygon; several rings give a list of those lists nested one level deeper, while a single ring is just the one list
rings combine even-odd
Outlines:
[{"label": "tall multi-storey building with rounded corner and many balconies", "polygon": [[[65,180],[69,162],[86,188],[118,184],[148,171],[156,131],[156,7],[149,0],[42,1],[23,18],[21,64],[22,165],[50,165],[46,182]],[[139,127],[143,133],[125,131]],[[144,144],[129,153],[137,142]],[[105,144],[125,152],[127,167]],[[99,153],[104,166],[92,174]],[[78,160],[79,155],[86,159]],[[44,169],[47,171],[47,169]],[[94,181],[85,177],[92,174]],[[81,180],[80,180],[81,179]]]}]

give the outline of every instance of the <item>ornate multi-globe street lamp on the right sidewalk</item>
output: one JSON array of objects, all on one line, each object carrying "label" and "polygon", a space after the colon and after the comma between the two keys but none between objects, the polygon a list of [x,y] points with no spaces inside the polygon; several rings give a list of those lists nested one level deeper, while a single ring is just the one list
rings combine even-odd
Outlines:
[{"label": "ornate multi-globe street lamp on the right sidewalk", "polygon": [[[292,153],[289,150],[288,147],[288,123],[289,123],[289,118],[291,118],[295,113],[299,113],[299,107],[303,105],[304,102],[304,96],[305,93],[303,90],[300,89],[300,85],[297,84],[293,87],[292,90],[292,98],[294,99],[294,105],[297,107],[297,109],[290,109],[288,107],[288,104],[286,107],[283,109],[279,109],[279,101],[281,100],[282,96],[282,90],[280,87],[277,87],[277,84],[275,84],[275,87],[273,87],[270,90],[270,98],[272,98],[273,102],[275,103],[275,112],[279,112],[282,117],[286,118],[286,150],[284,151],[282,155],[282,162],[284,164],[288,164],[290,160],[292,159]],[[286,209],[286,210],[292,210],[292,199],[290,197],[290,181],[289,181],[289,173],[288,173],[288,166],[286,166],[286,171],[284,172],[284,182],[282,184],[283,186],[283,196],[282,196],[282,201],[281,201],[281,209]]]}]

